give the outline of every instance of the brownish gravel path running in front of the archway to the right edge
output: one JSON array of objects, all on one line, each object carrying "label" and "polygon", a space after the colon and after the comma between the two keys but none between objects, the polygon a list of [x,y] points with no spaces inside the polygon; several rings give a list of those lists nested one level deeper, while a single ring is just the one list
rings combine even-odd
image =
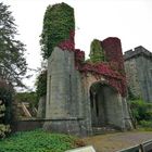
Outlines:
[{"label": "brownish gravel path running in front of the archway to the right edge", "polygon": [[115,152],[150,139],[152,140],[152,131],[129,131],[92,136],[83,140],[87,145],[93,145],[97,152]]}]

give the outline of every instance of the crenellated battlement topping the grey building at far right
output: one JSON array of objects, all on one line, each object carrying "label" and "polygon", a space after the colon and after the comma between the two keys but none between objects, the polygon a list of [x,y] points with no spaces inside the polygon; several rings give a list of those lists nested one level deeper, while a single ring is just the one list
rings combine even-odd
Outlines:
[{"label": "crenellated battlement topping the grey building at far right", "polygon": [[139,55],[144,55],[145,58],[150,58],[152,60],[152,53],[148,51],[145,48],[142,46],[136,47],[134,50],[130,49],[125,52],[124,54],[124,60],[129,60]]}]

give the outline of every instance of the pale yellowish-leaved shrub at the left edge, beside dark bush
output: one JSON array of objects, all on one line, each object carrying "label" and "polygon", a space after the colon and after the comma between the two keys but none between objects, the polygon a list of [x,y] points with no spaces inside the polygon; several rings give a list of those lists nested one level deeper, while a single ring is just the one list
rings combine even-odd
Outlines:
[{"label": "pale yellowish-leaved shrub at the left edge, beside dark bush", "polygon": [[5,106],[0,100],[0,138],[4,138],[7,132],[10,132],[10,125],[4,125],[2,123],[2,117],[4,117]]}]

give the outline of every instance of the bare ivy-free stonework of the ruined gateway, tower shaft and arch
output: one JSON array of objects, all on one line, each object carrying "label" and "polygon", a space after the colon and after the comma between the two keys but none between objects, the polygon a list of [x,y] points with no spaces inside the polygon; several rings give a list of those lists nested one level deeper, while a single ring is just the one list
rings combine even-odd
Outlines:
[{"label": "bare ivy-free stonework of the ruined gateway, tower shaft and arch", "polygon": [[[107,81],[103,76],[97,78],[91,73],[86,75],[77,71],[74,61],[74,52],[60,48],[54,48],[48,60],[46,118],[51,121],[46,122],[43,128],[80,136],[91,135],[92,127],[106,125],[131,128],[127,105],[123,105],[124,98],[109,85],[104,86]],[[91,107],[93,84],[101,85],[96,90],[99,116]]]}]

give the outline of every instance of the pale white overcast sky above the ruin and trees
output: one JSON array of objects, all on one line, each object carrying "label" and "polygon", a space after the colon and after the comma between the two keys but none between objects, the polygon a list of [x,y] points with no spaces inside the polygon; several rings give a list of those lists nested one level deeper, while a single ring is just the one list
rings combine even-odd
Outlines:
[{"label": "pale white overcast sky above the ruin and trees", "polygon": [[[40,68],[40,34],[46,9],[49,4],[65,2],[75,9],[77,49],[88,58],[90,43],[97,38],[118,37],[123,52],[143,46],[152,52],[152,0],[0,0],[10,5],[20,36],[26,45],[29,68]],[[29,90],[34,89],[36,76],[25,79]]]}]

